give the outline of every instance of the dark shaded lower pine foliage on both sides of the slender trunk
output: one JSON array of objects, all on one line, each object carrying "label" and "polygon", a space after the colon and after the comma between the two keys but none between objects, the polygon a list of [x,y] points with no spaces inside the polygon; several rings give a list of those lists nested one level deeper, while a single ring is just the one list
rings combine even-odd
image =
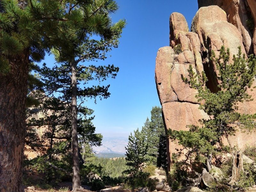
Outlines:
[{"label": "dark shaded lower pine foliage on both sides of the slender trunk", "polygon": [[[37,92],[33,93],[36,94]],[[36,169],[40,169],[43,161],[47,175],[46,179],[54,182],[56,177],[65,178],[72,171],[72,161],[70,161],[70,108],[67,103],[58,98],[49,98],[42,92],[39,93],[41,93],[39,94],[41,104],[36,108],[28,108],[27,110],[30,117],[27,120],[26,144],[35,151],[44,151],[43,156],[38,158],[36,162],[31,163],[34,164],[33,166]],[[90,168],[95,158],[92,146],[100,146],[102,140],[101,134],[94,133],[95,127],[92,124],[94,116],[91,116],[92,112],[92,110],[79,111],[81,116],[78,121],[79,153],[81,152],[79,161],[81,165],[86,161],[82,166],[83,170],[81,170],[84,175],[93,169],[93,166]],[[46,126],[46,129],[39,135],[36,132],[36,128],[43,126]],[[59,168],[65,167],[65,170],[69,173],[61,172],[58,169],[54,170],[48,163],[57,167],[61,165]]]}]

